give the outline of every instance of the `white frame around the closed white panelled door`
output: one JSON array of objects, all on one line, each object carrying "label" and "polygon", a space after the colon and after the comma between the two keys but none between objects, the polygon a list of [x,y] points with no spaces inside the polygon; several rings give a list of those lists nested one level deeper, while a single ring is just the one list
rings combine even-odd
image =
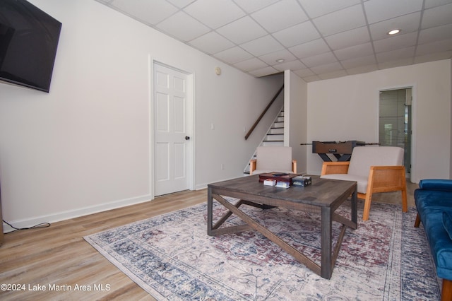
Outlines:
[{"label": "white frame around the closed white panelled door", "polygon": [[179,68],[175,68],[174,66],[162,63],[162,61],[159,61],[157,59],[154,59],[153,57],[149,56],[148,59],[149,64],[149,179],[150,179],[150,195],[152,196],[152,199],[155,198],[155,166],[157,164],[155,163],[155,129],[154,129],[154,66],[155,64],[159,64],[160,66],[165,66],[169,69],[173,69],[175,71],[179,71],[181,73],[186,74],[187,76],[187,110],[186,110],[186,129],[187,134],[190,136],[191,143],[188,143],[187,145],[187,163],[188,163],[188,186],[190,190],[194,190],[195,187],[195,97],[194,97],[194,73],[189,71],[184,71]]}]

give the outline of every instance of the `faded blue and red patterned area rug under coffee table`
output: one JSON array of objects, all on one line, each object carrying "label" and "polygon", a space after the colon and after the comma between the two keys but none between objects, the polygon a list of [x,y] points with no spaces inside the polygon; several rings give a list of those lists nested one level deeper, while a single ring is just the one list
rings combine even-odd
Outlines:
[{"label": "faded blue and red patterned area rug under coffee table", "polygon": [[[338,211],[346,214],[345,206]],[[319,213],[241,208],[320,264]],[[223,212],[214,207],[215,216]],[[206,203],[85,240],[157,300],[439,300],[440,279],[415,216],[415,209],[372,203],[371,219],[347,229],[330,280],[258,232],[208,236]],[[232,216],[232,224],[242,221]]]}]

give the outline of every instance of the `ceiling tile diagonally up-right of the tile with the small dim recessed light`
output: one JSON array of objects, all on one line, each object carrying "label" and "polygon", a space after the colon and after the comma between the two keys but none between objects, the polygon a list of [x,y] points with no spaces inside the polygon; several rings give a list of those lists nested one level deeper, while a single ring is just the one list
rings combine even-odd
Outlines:
[{"label": "ceiling tile diagonally up-right of the tile with the small dim recessed light", "polygon": [[292,47],[316,40],[320,37],[320,33],[312,25],[311,21],[307,21],[273,33],[273,37],[285,47]]}]

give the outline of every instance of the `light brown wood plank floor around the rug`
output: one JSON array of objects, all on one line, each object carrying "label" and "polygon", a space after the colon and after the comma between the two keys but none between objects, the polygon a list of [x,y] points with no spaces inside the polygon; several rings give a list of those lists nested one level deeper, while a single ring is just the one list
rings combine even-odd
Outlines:
[{"label": "light brown wood plank floor around the rug", "polygon": [[[414,206],[415,188],[416,184],[408,184],[409,206]],[[375,194],[374,201],[400,202],[400,192],[395,198],[391,194],[394,193]],[[0,285],[25,285],[25,290],[0,290],[0,300],[155,300],[85,242],[83,236],[206,200],[206,189],[182,191],[138,205],[64,220],[49,228],[8,233],[0,247]],[[33,291],[34,285],[44,285],[47,290]],[[71,285],[72,290],[50,291],[49,285],[61,285],[62,289],[63,285]],[[75,291],[76,285],[102,285],[105,290]]]}]

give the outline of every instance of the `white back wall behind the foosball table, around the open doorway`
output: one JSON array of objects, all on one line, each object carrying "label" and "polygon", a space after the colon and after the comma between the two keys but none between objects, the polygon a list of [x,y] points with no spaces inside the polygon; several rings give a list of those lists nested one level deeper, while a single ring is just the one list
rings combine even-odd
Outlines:
[{"label": "white back wall behind the foosball table, around the open doorway", "polygon": [[[451,60],[308,84],[308,141],[378,142],[379,90],[413,86],[412,181],[451,177]],[[308,172],[322,160],[309,153]]]}]

